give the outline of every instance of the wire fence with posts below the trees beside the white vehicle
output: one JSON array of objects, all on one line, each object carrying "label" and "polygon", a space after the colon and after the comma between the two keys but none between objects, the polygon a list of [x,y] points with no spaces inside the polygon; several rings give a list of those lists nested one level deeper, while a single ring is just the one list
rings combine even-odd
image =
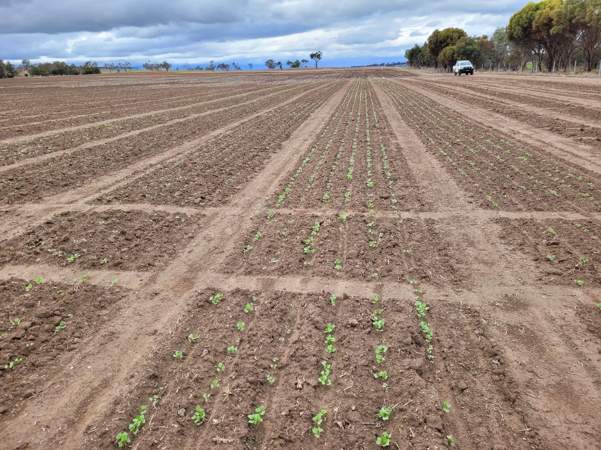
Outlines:
[{"label": "wire fence with posts below the trees beside the white vehicle", "polygon": [[[429,73],[453,73],[452,67],[411,67],[405,68],[412,70],[427,71]],[[499,62],[493,64],[475,65],[474,73],[480,74],[523,74],[523,75],[552,75],[552,76],[572,76],[572,77],[597,77],[601,78],[601,59],[572,61],[544,61],[540,66],[537,61],[528,61],[520,63]]]}]

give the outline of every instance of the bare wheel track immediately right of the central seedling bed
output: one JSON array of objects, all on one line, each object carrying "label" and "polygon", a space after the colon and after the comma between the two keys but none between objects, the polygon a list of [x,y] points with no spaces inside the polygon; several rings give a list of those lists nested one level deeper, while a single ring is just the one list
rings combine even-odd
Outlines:
[{"label": "bare wheel track immediately right of the central seedling bed", "polygon": [[[445,432],[453,434],[457,442],[466,448],[475,448],[478,445],[478,436],[481,434],[483,426],[481,424],[484,421],[485,427],[493,428],[490,430],[493,433],[490,439],[511,443],[514,448],[531,448],[530,445],[540,445],[542,448],[564,448],[564,446],[558,445],[557,436],[571,436],[575,441],[569,442],[579,442],[580,445],[576,445],[578,448],[591,448],[585,440],[582,440],[582,436],[588,434],[584,430],[585,427],[580,430],[580,435],[575,436],[573,424],[590,424],[594,421],[591,411],[594,411],[595,405],[601,402],[598,388],[599,371],[591,367],[580,367],[578,358],[573,356],[575,353],[573,339],[558,338],[558,332],[555,331],[558,322],[555,318],[570,314],[572,305],[541,301],[541,299],[546,300],[543,295],[548,294],[541,292],[543,295],[537,296],[534,292],[534,289],[541,289],[540,286],[536,286],[535,280],[539,270],[534,262],[519,252],[512,252],[503,242],[499,241],[500,227],[492,221],[492,218],[481,217],[479,214],[481,210],[472,205],[470,200],[462,194],[462,190],[455,184],[444,167],[435,158],[429,157],[426,148],[404,124],[385,92],[377,86],[375,91],[387,118],[393,125],[397,139],[404,144],[404,148],[412,149],[412,151],[405,151],[405,155],[410,168],[418,174],[416,179],[423,184],[424,188],[434,191],[426,191],[428,201],[435,202],[435,209],[442,211],[448,208],[449,203],[452,203],[454,208],[460,208],[463,205],[465,211],[469,212],[468,217],[461,221],[454,220],[452,217],[441,218],[436,224],[438,229],[446,230],[447,233],[451,232],[451,235],[454,235],[454,238],[447,239],[448,242],[454,242],[452,251],[461,252],[465,254],[466,260],[472,261],[472,278],[475,285],[478,286],[478,290],[471,292],[454,287],[453,290],[436,288],[438,289],[436,292],[436,289],[427,289],[429,295],[426,299],[431,308],[427,320],[433,324],[436,337],[435,353],[437,343],[440,343],[439,346],[442,344],[443,347],[453,346],[453,343],[463,343],[466,341],[466,337],[470,337],[472,343],[465,344],[465,348],[469,349],[472,357],[475,358],[474,367],[485,368],[487,372],[490,372],[491,364],[495,362],[492,359],[498,361],[497,364],[500,364],[499,367],[501,367],[499,376],[502,378],[500,380],[490,376],[466,377],[468,382],[470,378],[472,382],[468,384],[469,389],[466,391],[469,394],[465,395],[457,392],[456,389],[457,372],[460,372],[461,360],[451,359],[441,364],[438,359],[435,362],[435,365],[438,365],[441,370],[441,374],[439,374],[441,380],[436,382],[436,388],[441,395],[440,403],[447,398],[455,398],[455,401],[462,398],[459,405],[469,404],[467,414],[464,411],[460,412],[462,416],[460,420],[456,419],[457,415],[449,415],[451,421]],[[451,191],[450,196],[449,191]],[[385,284],[385,295],[391,287],[390,295],[394,293],[396,287]],[[566,296],[574,295],[574,289],[547,287],[546,290],[558,290],[564,292]],[[532,295],[529,293],[524,295],[525,292],[532,293]],[[578,295],[581,298],[584,297],[584,301],[588,304],[593,300],[593,296],[589,296],[587,293],[578,291]],[[516,341],[509,343],[505,338],[507,333],[504,333],[504,329],[497,325],[503,321],[507,326],[514,326],[512,321],[503,316],[504,312],[499,314],[500,318],[496,317],[498,302],[513,296],[525,297],[521,305],[522,310],[516,315],[516,322],[522,322],[522,326],[526,330],[537,332],[535,339],[532,339],[532,335],[527,335],[527,338],[519,346],[516,346]],[[433,301],[433,297],[445,299]],[[473,331],[457,326],[463,316],[452,305],[464,304],[478,310],[484,324],[482,338],[492,342],[492,350],[487,346],[478,346],[480,338],[478,341],[471,339]],[[441,313],[439,314],[438,311]],[[525,315],[528,317],[527,320],[524,319]],[[490,325],[486,325],[486,323]],[[564,326],[567,335],[573,334],[579,328],[582,328],[582,324],[573,323],[573,327]],[[552,343],[554,356],[559,353],[562,358],[553,358],[553,361],[551,361],[551,356],[546,358],[545,373],[542,376],[538,374],[534,378],[532,370],[542,364],[540,356],[547,351],[546,343]],[[540,348],[533,352],[536,345]],[[586,356],[591,356],[591,353],[588,352]],[[582,370],[578,377],[580,392],[577,397],[570,397],[570,395],[566,395],[564,374],[573,373],[574,367],[580,367]],[[539,378],[546,379],[547,387],[534,387],[536,384],[534,382]],[[504,382],[507,382],[507,385],[503,385]],[[528,393],[531,389],[539,392],[540,397],[532,400],[531,394]],[[585,394],[590,392],[594,392],[594,395],[585,397]],[[562,406],[562,409],[550,408],[550,405],[558,404],[557,398],[561,398],[565,405]],[[480,415],[488,409],[491,399],[500,401],[500,405],[509,409],[503,409],[501,412],[499,408],[500,414],[493,414],[482,419]],[[513,413],[511,409],[513,409]],[[576,422],[572,419],[574,415],[578,417]],[[480,418],[479,422],[478,418]],[[546,431],[549,428],[554,431]],[[476,437],[472,439],[471,436],[474,434]],[[599,442],[601,430],[597,429],[593,434]]]}]

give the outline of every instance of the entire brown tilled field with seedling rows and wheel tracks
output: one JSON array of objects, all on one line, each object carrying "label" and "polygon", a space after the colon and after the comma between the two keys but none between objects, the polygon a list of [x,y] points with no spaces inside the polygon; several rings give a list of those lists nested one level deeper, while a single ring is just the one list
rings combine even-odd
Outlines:
[{"label": "entire brown tilled field with seedling rows and wheel tracks", "polygon": [[0,83],[7,449],[598,449],[598,80]]}]

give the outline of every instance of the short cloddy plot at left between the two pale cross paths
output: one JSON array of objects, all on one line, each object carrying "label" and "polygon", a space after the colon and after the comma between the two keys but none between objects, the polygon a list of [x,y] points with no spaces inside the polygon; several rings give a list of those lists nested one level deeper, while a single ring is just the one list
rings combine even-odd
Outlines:
[{"label": "short cloddy plot at left between the two pale cross paths", "polygon": [[193,236],[195,217],[166,212],[66,212],[9,241],[2,263],[148,270],[164,267]]}]

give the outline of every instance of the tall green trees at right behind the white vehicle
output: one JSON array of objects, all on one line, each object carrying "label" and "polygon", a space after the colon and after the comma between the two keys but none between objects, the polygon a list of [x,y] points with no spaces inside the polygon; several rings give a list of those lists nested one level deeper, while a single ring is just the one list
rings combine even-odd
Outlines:
[{"label": "tall green trees at right behind the white vehicle", "polygon": [[598,67],[601,58],[601,0],[543,0],[529,2],[492,36],[468,36],[461,28],[436,29],[423,46],[405,52],[413,67],[448,69],[467,59],[476,66],[536,61],[538,70],[567,68],[581,59],[585,68]]}]

